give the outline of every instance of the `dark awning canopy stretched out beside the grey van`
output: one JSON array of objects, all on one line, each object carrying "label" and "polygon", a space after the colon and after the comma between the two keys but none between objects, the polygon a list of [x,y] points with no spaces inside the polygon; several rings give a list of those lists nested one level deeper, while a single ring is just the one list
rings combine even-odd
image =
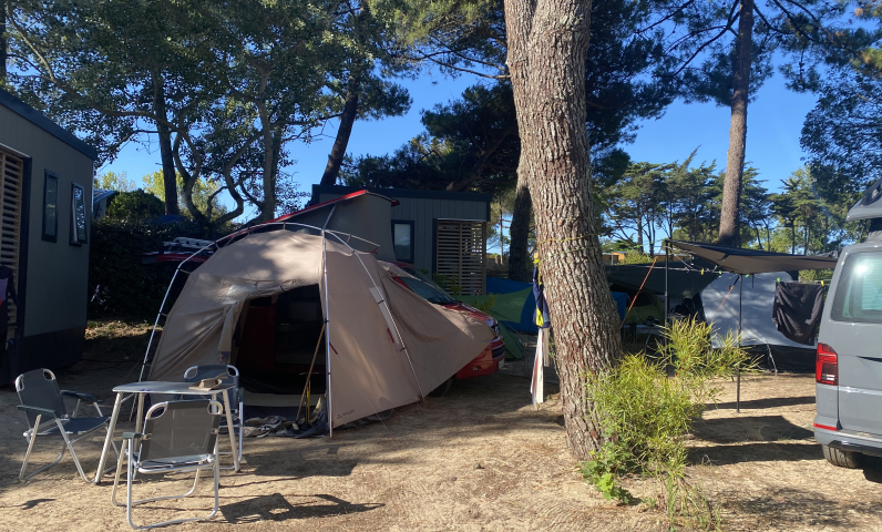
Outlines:
[{"label": "dark awning canopy stretched out beside the grey van", "polygon": [[699,244],[695,242],[668,241],[670,245],[717,265],[734,274],[766,274],[799,269],[828,269],[837,266],[837,259],[827,256],[788,255],[786,253],[742,249],[739,247]]}]

